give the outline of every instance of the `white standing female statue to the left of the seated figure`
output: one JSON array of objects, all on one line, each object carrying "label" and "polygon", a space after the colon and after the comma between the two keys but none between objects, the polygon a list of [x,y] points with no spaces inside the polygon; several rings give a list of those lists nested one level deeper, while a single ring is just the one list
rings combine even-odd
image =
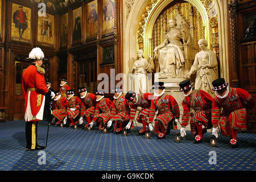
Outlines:
[{"label": "white standing female statue to the left of the seated figure", "polygon": [[137,51],[138,60],[134,62],[131,73],[133,74],[133,91],[136,93],[147,93],[148,79],[147,73],[151,73],[154,69],[154,62],[144,59],[144,53],[142,49]]}]

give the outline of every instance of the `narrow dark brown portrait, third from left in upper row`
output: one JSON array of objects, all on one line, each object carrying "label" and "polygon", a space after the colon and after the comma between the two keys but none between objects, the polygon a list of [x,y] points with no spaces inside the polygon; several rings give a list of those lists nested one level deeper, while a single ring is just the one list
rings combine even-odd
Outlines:
[{"label": "narrow dark brown portrait, third from left in upper row", "polygon": [[68,13],[60,16],[60,47],[68,46]]}]

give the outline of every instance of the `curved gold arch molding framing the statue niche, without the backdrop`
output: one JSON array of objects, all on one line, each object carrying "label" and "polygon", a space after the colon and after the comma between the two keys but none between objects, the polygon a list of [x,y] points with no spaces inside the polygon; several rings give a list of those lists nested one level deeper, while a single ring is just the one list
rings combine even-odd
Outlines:
[{"label": "curved gold arch molding framing the statue niche, without the backdrop", "polygon": [[[175,0],[151,0],[148,1],[142,13],[137,27],[137,49],[143,49],[145,56],[151,55],[152,30],[156,19],[163,9]],[[201,15],[205,39],[208,40],[208,48],[218,53],[218,21],[217,10],[213,0],[184,0],[191,3]],[[199,27],[197,27],[199,28]],[[200,30],[199,30],[200,31]],[[202,37],[203,38],[203,37]]]}]

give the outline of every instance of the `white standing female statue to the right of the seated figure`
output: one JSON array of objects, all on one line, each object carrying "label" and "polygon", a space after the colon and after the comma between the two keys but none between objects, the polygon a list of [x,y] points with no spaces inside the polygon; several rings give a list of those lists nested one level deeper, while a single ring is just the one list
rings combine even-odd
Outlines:
[{"label": "white standing female statue to the right of the seated figure", "polygon": [[196,73],[195,89],[204,90],[214,96],[212,81],[218,78],[216,53],[207,49],[208,43],[205,39],[200,39],[198,45],[201,51],[196,53],[195,61],[186,76],[190,77]]}]

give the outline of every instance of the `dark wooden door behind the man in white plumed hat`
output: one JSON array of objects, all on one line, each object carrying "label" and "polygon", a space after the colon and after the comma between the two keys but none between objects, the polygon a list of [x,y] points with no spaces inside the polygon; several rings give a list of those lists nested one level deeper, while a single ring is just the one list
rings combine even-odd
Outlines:
[{"label": "dark wooden door behind the man in white plumed hat", "polygon": [[[24,97],[22,93],[22,73],[31,63],[15,61],[14,64],[14,85],[13,85],[13,115],[14,120],[24,119]],[[11,89],[10,89],[11,90]]]}]

